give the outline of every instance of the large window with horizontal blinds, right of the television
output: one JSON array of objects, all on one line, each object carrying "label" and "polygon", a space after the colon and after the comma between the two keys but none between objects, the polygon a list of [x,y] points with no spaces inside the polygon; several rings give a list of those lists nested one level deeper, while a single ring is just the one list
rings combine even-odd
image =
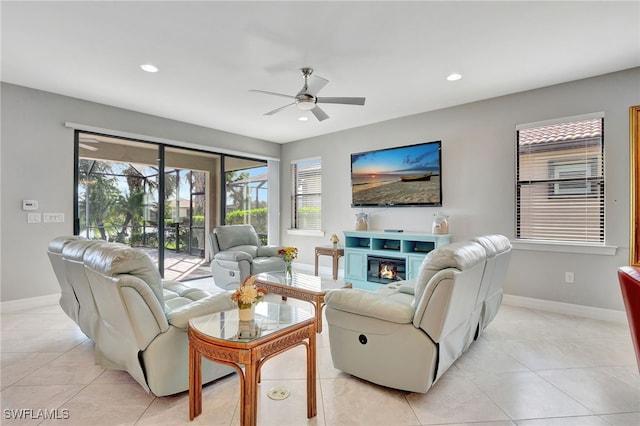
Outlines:
[{"label": "large window with horizontal blinds, right of the television", "polygon": [[517,131],[519,239],[604,244],[604,119]]}]

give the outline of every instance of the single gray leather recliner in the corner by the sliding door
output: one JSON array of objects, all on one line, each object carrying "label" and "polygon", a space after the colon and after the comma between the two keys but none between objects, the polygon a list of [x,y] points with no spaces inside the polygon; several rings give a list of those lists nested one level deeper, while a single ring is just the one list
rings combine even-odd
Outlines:
[{"label": "single gray leather recliner in the corner by the sliding door", "polygon": [[213,259],[211,274],[216,286],[234,290],[249,275],[261,272],[284,272],[278,255],[281,246],[261,246],[252,225],[219,226],[209,234]]}]

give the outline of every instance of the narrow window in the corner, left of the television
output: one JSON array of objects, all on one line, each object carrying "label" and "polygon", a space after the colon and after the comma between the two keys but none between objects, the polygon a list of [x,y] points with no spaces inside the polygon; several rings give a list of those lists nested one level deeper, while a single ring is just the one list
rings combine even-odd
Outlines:
[{"label": "narrow window in the corner, left of the television", "polygon": [[311,159],[291,164],[292,228],[320,230],[322,161]]}]

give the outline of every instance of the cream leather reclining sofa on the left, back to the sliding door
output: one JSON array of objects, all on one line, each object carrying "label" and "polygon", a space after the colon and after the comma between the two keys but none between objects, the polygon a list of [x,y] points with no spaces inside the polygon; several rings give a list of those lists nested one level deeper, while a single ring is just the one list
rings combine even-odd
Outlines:
[{"label": "cream leather reclining sofa on the left, back to the sliding door", "polygon": [[[62,259],[66,281],[60,285],[82,289],[76,321],[95,343],[96,362],[129,372],[156,396],[188,390],[188,321],[236,308],[229,294],[163,281],[146,253],[123,244],[74,239],[64,244]],[[234,371],[202,360],[203,383]]]}]

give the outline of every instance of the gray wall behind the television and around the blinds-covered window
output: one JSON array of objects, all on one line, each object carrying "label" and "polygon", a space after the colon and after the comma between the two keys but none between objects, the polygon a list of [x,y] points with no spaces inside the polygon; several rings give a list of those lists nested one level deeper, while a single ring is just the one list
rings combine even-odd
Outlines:
[{"label": "gray wall behind the television and around the blinds-covered window", "polygon": [[[640,68],[403,117],[286,144],[281,187],[289,188],[292,160],[321,156],[324,237],[283,231],[281,241],[313,263],[313,247],[332,233],[354,229],[350,207],[350,153],[442,140],[443,207],[366,209],[371,228],[429,232],[433,213],[451,215],[454,240],[473,235],[515,235],[515,126],[591,112],[605,113],[606,244],[616,254],[514,250],[505,292],[557,302],[623,309],[616,268],[629,258],[629,107],[640,104]],[[290,198],[281,198],[282,229],[290,227]],[[329,266],[329,258],[321,257]],[[564,283],[564,272],[575,283]]]}]

